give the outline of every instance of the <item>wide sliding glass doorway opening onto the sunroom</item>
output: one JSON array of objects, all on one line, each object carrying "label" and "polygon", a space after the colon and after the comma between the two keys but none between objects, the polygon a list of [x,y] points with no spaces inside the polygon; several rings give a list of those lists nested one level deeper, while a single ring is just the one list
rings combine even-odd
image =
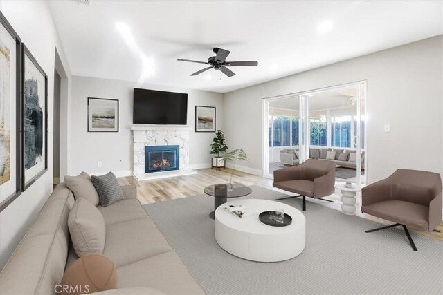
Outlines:
[{"label": "wide sliding glass doorway opening onto the sunroom", "polygon": [[365,82],[264,99],[263,175],[320,158],[336,162],[337,182],[364,184],[365,105]]}]

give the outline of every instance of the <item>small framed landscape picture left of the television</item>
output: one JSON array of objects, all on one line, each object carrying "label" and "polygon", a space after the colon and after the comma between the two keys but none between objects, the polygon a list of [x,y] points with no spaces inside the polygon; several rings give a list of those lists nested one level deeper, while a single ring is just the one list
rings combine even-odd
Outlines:
[{"label": "small framed landscape picture left of the television", "polygon": [[88,97],[88,132],[118,132],[118,99]]}]

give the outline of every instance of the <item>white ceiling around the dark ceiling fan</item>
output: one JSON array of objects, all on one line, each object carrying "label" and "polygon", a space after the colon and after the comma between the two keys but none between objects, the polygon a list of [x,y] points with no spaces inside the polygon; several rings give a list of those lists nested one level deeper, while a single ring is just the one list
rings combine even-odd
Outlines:
[{"label": "white ceiling around the dark ceiling fan", "polygon": [[[443,34],[443,1],[49,3],[73,75],[220,93]],[[206,65],[177,61],[213,47],[259,65],[190,77]]]}]

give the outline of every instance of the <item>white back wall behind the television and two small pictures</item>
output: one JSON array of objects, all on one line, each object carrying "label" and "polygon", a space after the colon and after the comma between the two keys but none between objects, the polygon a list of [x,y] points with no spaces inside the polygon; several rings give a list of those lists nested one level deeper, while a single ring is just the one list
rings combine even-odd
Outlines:
[{"label": "white back wall behind the television and two small pictures", "polygon": [[[71,152],[69,174],[105,173],[113,171],[117,176],[132,175],[132,104],[134,82],[77,77],[72,79],[71,91]],[[210,144],[215,133],[195,133],[195,105],[215,106],[216,128],[223,129],[223,95],[208,91],[194,91],[144,84],[137,88],[188,93],[188,126],[190,136],[190,169],[210,166]],[[87,132],[88,97],[118,99],[120,108],[120,131]],[[102,167],[98,167],[98,161]]]}]

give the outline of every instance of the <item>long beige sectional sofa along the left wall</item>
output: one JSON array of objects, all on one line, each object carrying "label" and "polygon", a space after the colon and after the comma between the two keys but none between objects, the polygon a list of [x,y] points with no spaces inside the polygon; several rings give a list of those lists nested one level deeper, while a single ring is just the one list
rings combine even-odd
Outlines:
[{"label": "long beige sectional sofa along the left wall", "polygon": [[[122,189],[123,200],[98,209],[106,227],[103,254],[114,262],[117,288],[125,289],[100,294],[205,294],[136,199],[136,187]],[[55,285],[78,259],[68,229],[74,202],[65,184],[55,187],[1,272],[0,294],[57,294]]]}]

